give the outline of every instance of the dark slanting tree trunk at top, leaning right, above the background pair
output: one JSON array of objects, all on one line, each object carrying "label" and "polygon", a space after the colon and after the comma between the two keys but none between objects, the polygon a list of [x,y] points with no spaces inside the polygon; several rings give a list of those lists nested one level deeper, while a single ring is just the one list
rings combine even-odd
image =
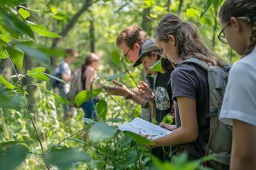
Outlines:
[{"label": "dark slanting tree trunk at top, leaning right, above the background pair", "polygon": [[[67,36],[68,31],[70,31],[73,26],[76,24],[76,22],[79,20],[79,17],[84,14],[84,12],[86,10],[88,10],[88,8],[90,7],[90,5],[92,4],[93,0],[87,0],[86,3],[84,3],[84,6],[82,8],[80,8],[79,12],[77,14],[74,14],[72,19],[69,21],[69,23],[67,24],[67,26],[64,27],[64,29],[61,31],[60,35],[61,37],[65,37]],[[58,46],[58,43],[60,42],[61,38],[57,37],[54,39],[51,48],[56,48]],[[56,65],[56,59],[55,58],[51,58],[51,65],[55,67]]]}]

